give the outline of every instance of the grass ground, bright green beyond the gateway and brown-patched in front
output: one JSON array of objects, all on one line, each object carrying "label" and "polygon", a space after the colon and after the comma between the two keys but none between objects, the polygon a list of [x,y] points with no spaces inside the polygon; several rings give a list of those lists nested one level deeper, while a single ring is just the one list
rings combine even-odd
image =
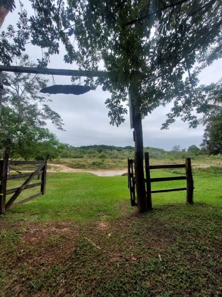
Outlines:
[{"label": "grass ground, bright green beyond the gateway and brown-patched in front", "polygon": [[0,217],[1,296],[220,296],[222,168],[193,175],[194,205],[153,194],[138,214],[126,176],[48,173],[45,196]]}]

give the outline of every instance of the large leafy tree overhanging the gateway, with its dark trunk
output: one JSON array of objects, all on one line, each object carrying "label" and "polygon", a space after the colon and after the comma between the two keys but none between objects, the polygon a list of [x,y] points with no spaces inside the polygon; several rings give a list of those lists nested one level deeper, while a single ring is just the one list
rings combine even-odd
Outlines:
[{"label": "large leafy tree overhanging the gateway, with its dark trunk", "polygon": [[[59,52],[59,42],[67,51],[65,61],[76,61],[80,68],[97,70],[103,60],[108,78],[94,81],[89,77],[86,83],[95,88],[103,84],[103,89],[111,92],[106,104],[112,125],[124,121],[126,108],[122,102],[128,100],[130,91],[135,111],[138,208],[146,210],[142,118],[172,100],[174,107],[163,128],[179,116],[196,127],[198,119],[192,111],[207,113],[207,96],[198,86],[197,73],[206,63],[222,56],[221,0],[31,2],[35,16],[27,18],[25,11],[21,13],[21,28],[24,22],[30,27],[25,30],[26,36],[21,34],[22,29],[18,32],[19,46],[15,47],[15,40],[10,43],[7,34],[2,33],[2,61],[8,63],[9,52],[22,50],[29,38],[34,45],[47,48],[40,66],[46,65],[50,54]],[[78,49],[74,48],[76,44]],[[205,57],[206,52],[210,59]],[[202,65],[192,72],[195,61]]]}]

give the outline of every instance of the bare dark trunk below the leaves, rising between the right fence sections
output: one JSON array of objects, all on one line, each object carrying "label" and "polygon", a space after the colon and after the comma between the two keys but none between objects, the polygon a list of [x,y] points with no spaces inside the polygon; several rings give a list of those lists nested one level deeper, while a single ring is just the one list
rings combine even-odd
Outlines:
[{"label": "bare dark trunk below the leaves, rising between the right fence sections", "polygon": [[144,144],[141,114],[134,115],[135,131],[135,178],[137,190],[137,206],[139,212],[147,211],[146,187],[144,179]]}]

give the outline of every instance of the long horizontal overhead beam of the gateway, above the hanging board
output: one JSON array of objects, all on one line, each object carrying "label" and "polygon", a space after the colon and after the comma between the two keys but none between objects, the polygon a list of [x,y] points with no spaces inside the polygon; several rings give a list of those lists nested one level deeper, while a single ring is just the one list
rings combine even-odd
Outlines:
[{"label": "long horizontal overhead beam of the gateway, above the hanging board", "polygon": [[87,71],[72,69],[54,69],[54,68],[35,68],[23,66],[4,66],[0,65],[0,71],[34,74],[52,74],[66,76],[86,76],[86,77],[108,77],[107,71]]}]

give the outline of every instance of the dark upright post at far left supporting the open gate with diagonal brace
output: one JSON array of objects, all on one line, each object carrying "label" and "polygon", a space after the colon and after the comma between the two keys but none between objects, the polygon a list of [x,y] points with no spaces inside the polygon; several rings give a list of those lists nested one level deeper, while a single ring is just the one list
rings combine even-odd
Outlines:
[{"label": "dark upright post at far left supporting the open gate with diagonal brace", "polygon": [[0,214],[5,213],[5,199],[7,187],[7,169],[10,149],[6,148],[3,160],[0,161]]}]

